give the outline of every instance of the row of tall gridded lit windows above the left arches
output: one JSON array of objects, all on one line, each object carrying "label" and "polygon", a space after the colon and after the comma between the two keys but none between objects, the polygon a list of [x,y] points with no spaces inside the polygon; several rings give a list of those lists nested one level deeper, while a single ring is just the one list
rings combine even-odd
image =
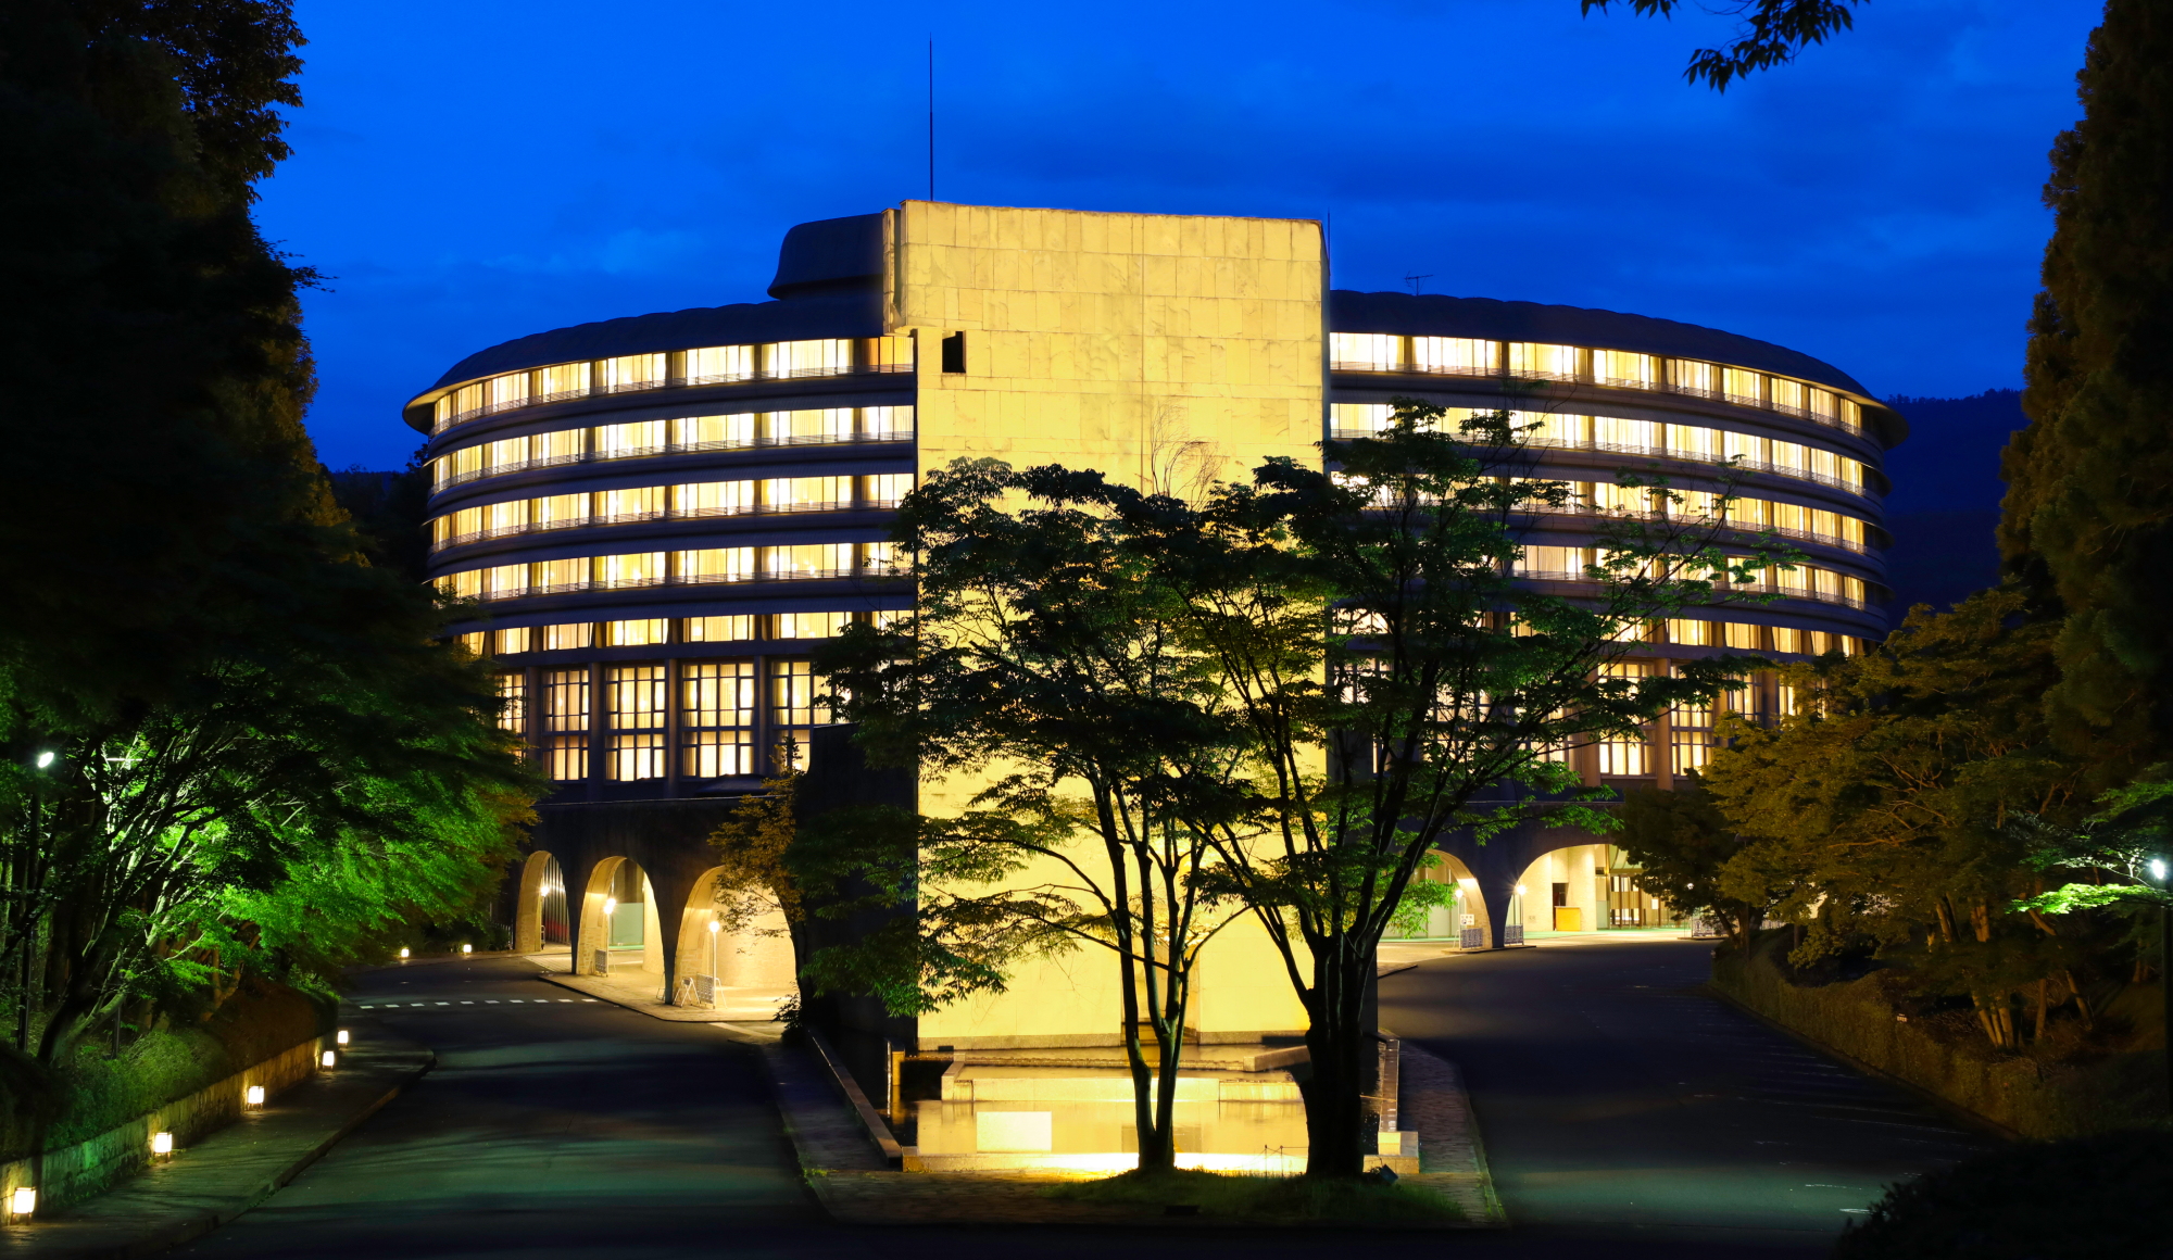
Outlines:
[{"label": "row of tall gridded lit windows above the left arches", "polygon": [[[606,780],[658,780],[674,745],[682,778],[765,773],[774,767],[763,754],[780,745],[806,769],[813,728],[830,723],[828,686],[806,660],[769,660],[765,673],[767,689],[754,660],[545,669],[530,713],[528,673],[506,671],[498,676],[498,723],[532,741],[543,771],[561,782],[589,778],[591,752],[602,754]],[[591,702],[598,689],[602,704]],[[756,706],[765,700],[769,747],[756,749]]]}]

